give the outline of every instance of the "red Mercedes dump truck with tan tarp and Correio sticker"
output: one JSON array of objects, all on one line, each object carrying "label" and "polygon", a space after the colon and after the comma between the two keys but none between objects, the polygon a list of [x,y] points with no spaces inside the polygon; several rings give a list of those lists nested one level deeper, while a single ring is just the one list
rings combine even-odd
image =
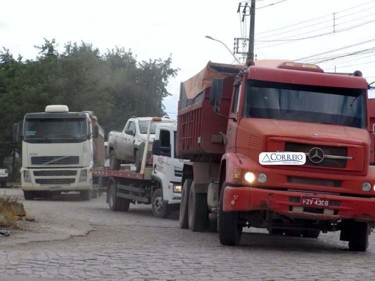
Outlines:
[{"label": "red Mercedes dump truck with tan tarp and Correio sticker", "polygon": [[180,86],[177,155],[191,159],[180,228],[218,231],[222,245],[238,245],[244,227],[340,231],[365,251],[375,221],[367,88],[360,71],[208,62]]}]

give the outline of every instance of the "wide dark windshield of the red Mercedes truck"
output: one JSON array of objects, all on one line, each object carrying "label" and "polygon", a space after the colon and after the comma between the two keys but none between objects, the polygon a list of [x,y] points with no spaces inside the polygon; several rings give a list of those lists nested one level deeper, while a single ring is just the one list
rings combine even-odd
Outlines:
[{"label": "wide dark windshield of the red Mercedes truck", "polygon": [[366,128],[365,90],[248,80],[242,117]]}]

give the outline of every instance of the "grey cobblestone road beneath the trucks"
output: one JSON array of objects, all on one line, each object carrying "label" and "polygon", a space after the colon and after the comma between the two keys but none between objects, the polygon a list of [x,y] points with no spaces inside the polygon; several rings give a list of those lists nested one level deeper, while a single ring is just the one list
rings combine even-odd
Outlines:
[{"label": "grey cobblestone road beneath the trucks", "polygon": [[[18,189],[9,193],[22,195]],[[359,253],[349,252],[339,233],[309,239],[256,229],[243,234],[239,247],[224,247],[215,233],[179,229],[177,213],[156,219],[144,205],[130,205],[127,213],[111,212],[105,196],[23,203],[27,215],[43,226],[28,235],[53,233],[59,216],[62,234],[82,236],[21,245],[9,243],[17,233],[0,238],[1,281],[375,280],[374,234],[367,252]],[[63,238],[59,235],[56,232],[55,239]]]}]

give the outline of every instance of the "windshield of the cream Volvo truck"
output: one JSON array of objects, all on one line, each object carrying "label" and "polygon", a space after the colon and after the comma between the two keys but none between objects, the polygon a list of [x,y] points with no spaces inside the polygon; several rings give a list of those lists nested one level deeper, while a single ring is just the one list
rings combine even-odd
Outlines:
[{"label": "windshield of the cream Volvo truck", "polygon": [[85,118],[29,118],[24,120],[23,140],[28,143],[78,143],[87,138]]}]

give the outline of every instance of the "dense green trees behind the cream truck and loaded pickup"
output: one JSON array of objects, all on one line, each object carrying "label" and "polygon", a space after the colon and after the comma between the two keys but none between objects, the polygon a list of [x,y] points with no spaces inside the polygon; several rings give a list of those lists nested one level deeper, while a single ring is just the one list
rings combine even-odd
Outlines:
[{"label": "dense green trees behind the cream truck and loaded pickup", "polygon": [[165,115],[162,100],[170,95],[166,85],[178,71],[170,67],[170,56],[137,62],[123,48],[100,55],[84,42],[68,42],[62,53],[57,46],[54,39],[44,38],[35,46],[36,59],[26,61],[14,59],[4,47],[0,51],[0,167],[9,165],[13,150],[21,152],[20,144],[12,142],[13,123],[21,123],[25,113],[43,112],[49,104],[93,111],[105,138],[110,130],[122,130],[132,115]]}]

